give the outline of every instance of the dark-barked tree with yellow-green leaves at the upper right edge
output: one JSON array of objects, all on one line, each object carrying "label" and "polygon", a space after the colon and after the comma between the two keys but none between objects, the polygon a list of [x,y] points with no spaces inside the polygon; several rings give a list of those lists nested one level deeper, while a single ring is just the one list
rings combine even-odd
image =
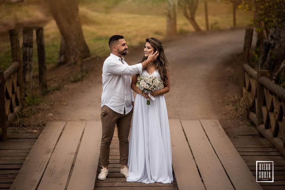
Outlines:
[{"label": "dark-barked tree with yellow-green leaves at the upper right edge", "polygon": [[285,84],[285,0],[244,0],[244,11],[254,11],[251,19],[256,27],[256,69],[268,69],[270,79]]}]

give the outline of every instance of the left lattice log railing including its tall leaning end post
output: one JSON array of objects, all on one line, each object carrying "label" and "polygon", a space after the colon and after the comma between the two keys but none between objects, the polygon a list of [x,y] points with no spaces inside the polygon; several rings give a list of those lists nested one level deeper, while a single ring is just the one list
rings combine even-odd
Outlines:
[{"label": "left lattice log railing including its tall leaning end post", "polygon": [[13,64],[4,72],[0,71],[0,140],[7,140],[7,128],[23,106],[24,83],[23,65],[20,56],[18,32],[9,31]]}]

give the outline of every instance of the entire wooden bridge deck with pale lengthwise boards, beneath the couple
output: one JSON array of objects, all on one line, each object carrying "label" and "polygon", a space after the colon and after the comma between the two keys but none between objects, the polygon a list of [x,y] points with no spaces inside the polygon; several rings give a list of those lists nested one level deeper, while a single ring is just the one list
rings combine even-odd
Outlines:
[{"label": "entire wooden bridge deck with pale lengthwise boards, beneath the couple", "polygon": [[[249,136],[239,135],[238,138],[231,138],[236,149],[217,120],[169,120],[169,122],[172,166],[176,178],[172,184],[126,182],[124,176],[119,173],[118,137],[114,137],[111,144],[110,173],[105,181],[96,181],[100,171],[98,159],[101,122],[88,121],[49,123],[36,143],[37,135],[34,134],[33,138],[23,140],[19,136],[12,140],[8,134],[9,142],[0,143],[1,157],[5,157],[6,160],[2,163],[0,160],[0,185],[2,185],[0,188],[14,190],[284,189],[282,185],[284,175],[276,170],[278,167],[276,165],[274,165],[274,175],[279,174],[277,178],[274,176],[276,184],[260,183],[261,188],[255,182],[253,163],[255,164],[255,160],[260,160],[260,156],[267,155],[266,151],[269,151],[268,155],[271,156],[265,156],[265,160],[273,159],[274,164],[279,163],[279,169],[283,169],[285,165],[283,157],[280,157],[278,151],[270,144],[260,143],[256,139],[250,141]],[[265,147],[262,146],[264,144]],[[259,146],[267,149],[257,152],[259,149],[256,148],[261,148]],[[253,155],[257,155],[258,159]]]}]

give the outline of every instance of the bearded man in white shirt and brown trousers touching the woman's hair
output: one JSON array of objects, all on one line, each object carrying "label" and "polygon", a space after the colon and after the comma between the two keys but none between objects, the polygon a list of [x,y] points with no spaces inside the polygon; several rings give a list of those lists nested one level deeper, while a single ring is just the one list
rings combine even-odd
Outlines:
[{"label": "bearded man in white shirt and brown trousers touching the woman's hair", "polygon": [[130,76],[142,70],[156,60],[158,52],[151,53],[142,63],[129,66],[122,56],[127,54],[128,46],[121,35],[109,39],[110,56],[104,61],[102,72],[103,91],[101,97],[102,139],[100,147],[100,164],[102,170],[99,180],[108,175],[110,144],[114,135],[115,124],[118,128],[121,174],[126,178],[129,168],[126,167],[129,156],[129,131],[134,106]]}]

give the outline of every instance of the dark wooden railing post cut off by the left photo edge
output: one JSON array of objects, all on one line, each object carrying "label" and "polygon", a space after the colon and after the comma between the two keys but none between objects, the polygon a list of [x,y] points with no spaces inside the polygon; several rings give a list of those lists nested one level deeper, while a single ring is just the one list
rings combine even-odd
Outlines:
[{"label": "dark wooden railing post cut off by the left photo edge", "polygon": [[4,71],[0,71],[0,135],[1,141],[7,140],[6,103],[5,103]]}]

